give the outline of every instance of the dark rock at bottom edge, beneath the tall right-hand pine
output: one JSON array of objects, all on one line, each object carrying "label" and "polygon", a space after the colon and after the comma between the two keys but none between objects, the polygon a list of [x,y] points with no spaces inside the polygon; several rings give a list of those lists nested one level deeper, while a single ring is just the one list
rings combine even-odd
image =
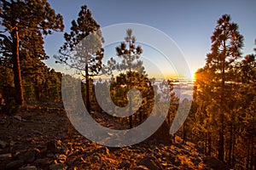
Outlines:
[{"label": "dark rock at bottom edge, beneath the tall right-hand pine", "polygon": [[212,169],[219,169],[219,170],[229,170],[230,169],[223,161],[219,161],[217,158],[212,157],[212,156],[204,157],[203,163],[205,165],[207,165],[207,167],[211,167]]}]

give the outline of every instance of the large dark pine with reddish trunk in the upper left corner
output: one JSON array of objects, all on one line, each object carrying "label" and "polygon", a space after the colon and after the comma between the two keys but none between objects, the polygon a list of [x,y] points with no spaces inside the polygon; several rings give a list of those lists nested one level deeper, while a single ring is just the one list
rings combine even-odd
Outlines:
[{"label": "large dark pine with reddish trunk in the upper left corner", "polygon": [[24,105],[20,60],[23,57],[46,59],[44,35],[62,31],[61,14],[55,14],[47,1],[1,1],[1,63],[14,71],[16,105]]}]

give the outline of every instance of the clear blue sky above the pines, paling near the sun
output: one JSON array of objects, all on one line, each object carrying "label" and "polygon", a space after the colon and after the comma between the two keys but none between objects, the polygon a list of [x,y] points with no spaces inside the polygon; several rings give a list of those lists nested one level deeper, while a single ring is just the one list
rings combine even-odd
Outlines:
[{"label": "clear blue sky above the pines, paling near the sun", "polygon": [[[55,8],[56,13],[62,14],[65,32],[70,31],[71,21],[78,18],[80,7],[84,4],[88,6],[93,18],[102,28],[122,23],[137,23],[162,31],[176,43],[192,75],[198,68],[205,65],[206,54],[210,53],[211,49],[212,31],[216,21],[223,14],[230,14],[231,21],[239,26],[239,31],[244,37],[243,55],[254,54],[253,48],[256,47],[254,44],[256,39],[255,0],[49,0],[49,3],[52,8]],[[64,42],[63,34],[64,32],[55,32],[45,38],[44,47],[50,56],[45,63],[56,71],[63,71],[63,66],[56,65],[52,57],[58,54],[58,49]],[[157,57],[152,59],[152,62],[159,60]],[[163,68],[168,70],[167,67]]]}]

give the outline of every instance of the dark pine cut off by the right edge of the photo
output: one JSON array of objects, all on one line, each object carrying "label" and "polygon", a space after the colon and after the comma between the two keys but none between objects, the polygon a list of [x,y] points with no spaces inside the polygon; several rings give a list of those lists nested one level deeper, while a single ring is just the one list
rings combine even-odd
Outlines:
[{"label": "dark pine cut off by the right edge of the photo", "polygon": [[[256,50],[255,50],[256,52]],[[246,156],[245,167],[247,169],[253,169],[255,167],[256,160],[256,128],[255,128],[255,103],[256,103],[256,59],[255,54],[247,54],[244,59],[241,60],[239,76],[242,86],[239,90],[239,99],[241,108],[238,113],[240,114],[241,124],[241,139],[242,144],[246,150],[242,150],[239,155]]]}]

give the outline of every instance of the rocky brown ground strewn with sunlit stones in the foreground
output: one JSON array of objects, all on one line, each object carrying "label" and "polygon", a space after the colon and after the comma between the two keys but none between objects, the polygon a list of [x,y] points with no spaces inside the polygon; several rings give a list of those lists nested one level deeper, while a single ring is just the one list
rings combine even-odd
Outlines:
[{"label": "rocky brown ground strewn with sunlit stones in the foreground", "polygon": [[[98,122],[106,120],[95,114]],[[107,126],[118,122],[112,123]],[[0,169],[229,169],[178,136],[174,144],[154,139],[125,148],[96,144],[73,131],[57,104],[26,105],[12,116],[2,113],[0,127]]]}]

